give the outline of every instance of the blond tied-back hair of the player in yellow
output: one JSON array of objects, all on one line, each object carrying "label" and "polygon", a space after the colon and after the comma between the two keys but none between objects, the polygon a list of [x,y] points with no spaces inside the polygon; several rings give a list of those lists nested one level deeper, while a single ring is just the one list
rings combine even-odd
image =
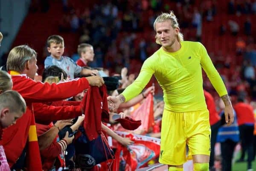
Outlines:
[{"label": "blond tied-back hair of the player in yellow", "polygon": [[[162,23],[164,21],[171,21],[172,28],[174,28],[174,29],[180,28],[179,23],[177,22],[177,17],[173,13],[173,11],[171,11],[170,13],[162,13],[156,18],[156,20],[154,21],[154,30],[156,31],[156,23]],[[157,38],[157,36],[156,36],[156,38]],[[183,34],[181,32],[178,33],[177,40],[178,40],[178,42],[184,40]],[[156,43],[160,44],[159,40],[156,39]]]}]

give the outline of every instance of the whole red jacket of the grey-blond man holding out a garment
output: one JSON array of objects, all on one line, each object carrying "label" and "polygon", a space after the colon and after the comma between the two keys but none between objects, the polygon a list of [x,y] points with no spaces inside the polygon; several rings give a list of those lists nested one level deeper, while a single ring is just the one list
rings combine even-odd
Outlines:
[{"label": "whole red jacket of the grey-blond man holding out a garment", "polygon": [[[31,120],[34,120],[32,103],[67,99],[82,92],[84,89],[89,88],[89,82],[86,78],[80,78],[58,84],[43,84],[41,82],[35,82],[23,74],[12,75],[12,82],[13,90],[19,92],[25,99],[27,108],[26,113],[24,113],[23,116],[17,120],[16,124],[6,128],[3,133],[1,143],[5,149],[6,158],[10,167],[12,167],[12,165],[20,157],[20,154],[28,140],[29,130],[31,129],[30,123]],[[35,127],[33,127],[33,130],[34,129]],[[32,135],[33,139],[30,139],[29,141],[35,140],[37,142],[36,132],[31,131],[31,133],[34,133],[34,135]],[[38,151],[39,153],[38,144],[37,149],[33,149],[33,151]],[[29,162],[33,162],[32,159],[40,159],[40,156],[29,156],[29,152],[27,154]],[[41,168],[39,167],[40,166],[34,168],[33,171],[41,171]]]}]

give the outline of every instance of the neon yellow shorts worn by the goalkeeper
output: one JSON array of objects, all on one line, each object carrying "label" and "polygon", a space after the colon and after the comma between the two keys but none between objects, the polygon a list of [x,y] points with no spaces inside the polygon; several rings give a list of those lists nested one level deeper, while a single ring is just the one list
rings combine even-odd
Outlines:
[{"label": "neon yellow shorts worn by the goalkeeper", "polygon": [[[159,162],[182,165],[192,155],[210,155],[209,111],[175,113],[163,111]],[[189,148],[186,157],[186,145]]]}]

